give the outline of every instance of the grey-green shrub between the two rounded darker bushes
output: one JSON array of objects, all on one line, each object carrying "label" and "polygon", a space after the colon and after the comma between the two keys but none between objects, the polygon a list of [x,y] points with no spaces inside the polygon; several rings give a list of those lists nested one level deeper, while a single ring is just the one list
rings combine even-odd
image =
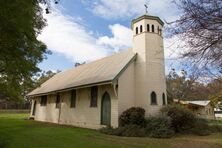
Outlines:
[{"label": "grey-green shrub between the two rounded darker bushes", "polygon": [[171,119],[166,116],[147,118],[146,134],[155,138],[169,138],[174,135]]}]

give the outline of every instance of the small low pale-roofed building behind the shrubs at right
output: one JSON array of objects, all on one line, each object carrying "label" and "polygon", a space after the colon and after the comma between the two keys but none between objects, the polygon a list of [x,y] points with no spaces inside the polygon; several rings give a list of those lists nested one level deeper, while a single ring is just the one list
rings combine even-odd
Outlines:
[{"label": "small low pale-roofed building behind the shrubs at right", "polygon": [[182,101],[174,99],[174,102],[186,106],[200,118],[215,119],[214,107],[211,106],[209,100]]}]

